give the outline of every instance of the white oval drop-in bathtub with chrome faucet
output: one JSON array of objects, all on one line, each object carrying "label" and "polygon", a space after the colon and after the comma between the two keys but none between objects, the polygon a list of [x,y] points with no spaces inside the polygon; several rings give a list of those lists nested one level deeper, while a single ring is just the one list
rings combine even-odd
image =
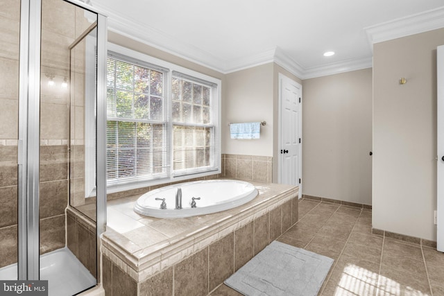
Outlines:
[{"label": "white oval drop-in bathtub with chrome faucet", "polygon": [[[182,189],[182,209],[176,209],[176,192]],[[237,180],[206,180],[180,183],[149,191],[134,205],[137,214],[156,218],[185,218],[216,213],[239,207],[257,195],[253,184]],[[191,198],[196,200],[196,208],[191,208]],[[167,209],[160,209],[165,198]]]}]

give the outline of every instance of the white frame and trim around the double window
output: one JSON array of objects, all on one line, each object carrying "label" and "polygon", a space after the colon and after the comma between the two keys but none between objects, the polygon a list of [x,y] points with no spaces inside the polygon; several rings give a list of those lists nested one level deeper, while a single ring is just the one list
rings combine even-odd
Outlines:
[{"label": "white frame and trim around the double window", "polygon": [[[221,173],[221,89],[222,89],[222,82],[219,78],[214,78],[212,76],[208,76],[206,74],[187,69],[185,67],[181,67],[177,64],[173,64],[171,62],[167,62],[164,60],[160,60],[158,58],[153,58],[150,55],[146,55],[145,53],[140,53],[138,51],[133,51],[132,49],[127,49],[126,47],[119,46],[117,44],[113,44],[108,42],[108,53],[111,55],[114,55],[115,57],[121,58],[122,60],[126,60],[127,62],[134,62],[134,64],[137,64],[137,62],[142,62],[143,64],[138,64],[139,66],[146,67],[147,65],[153,65],[153,69],[162,69],[165,71],[166,78],[164,79],[165,82],[165,89],[167,92],[167,96],[165,96],[166,100],[166,107],[167,110],[165,112],[168,112],[169,116],[169,122],[167,125],[169,127],[167,128],[169,132],[169,147],[167,152],[167,157],[169,157],[169,176],[162,178],[162,179],[154,179],[154,180],[140,180],[135,182],[128,182],[124,184],[110,184],[107,183],[107,191],[108,193],[113,192],[119,192],[119,191],[126,191],[130,189],[137,189],[141,187],[146,186],[152,186],[157,184],[164,184],[169,182],[177,182],[182,180],[189,180],[191,178],[196,177],[205,177],[208,175],[215,175]],[[175,174],[173,170],[173,116],[172,116],[172,102],[173,102],[173,94],[172,94],[172,78],[173,73],[182,73],[184,76],[196,78],[196,82],[207,82],[211,85],[214,85],[214,107],[216,107],[215,114],[216,118],[214,119],[214,130],[216,134],[214,135],[214,144],[216,147],[213,147],[212,150],[214,151],[214,166],[209,168],[208,171],[203,171],[199,173],[191,173],[186,175],[177,175]],[[108,116],[107,116],[108,121]]]}]

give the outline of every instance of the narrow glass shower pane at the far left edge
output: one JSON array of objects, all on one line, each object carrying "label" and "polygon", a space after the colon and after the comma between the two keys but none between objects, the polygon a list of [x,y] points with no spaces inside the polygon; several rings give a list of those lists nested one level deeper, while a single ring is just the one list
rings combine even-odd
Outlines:
[{"label": "narrow glass shower pane at the far left edge", "polygon": [[0,280],[17,279],[20,1],[0,14]]}]

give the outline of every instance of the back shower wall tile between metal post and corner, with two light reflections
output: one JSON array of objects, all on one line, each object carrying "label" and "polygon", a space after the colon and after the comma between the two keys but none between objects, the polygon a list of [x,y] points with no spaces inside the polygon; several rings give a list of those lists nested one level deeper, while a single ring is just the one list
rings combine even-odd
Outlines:
[{"label": "back shower wall tile between metal post and corner, with two light reflections", "polygon": [[[42,1],[40,84],[40,253],[65,247],[69,198],[69,45],[76,40],[76,7]],[[55,82],[48,85],[49,79]]]}]

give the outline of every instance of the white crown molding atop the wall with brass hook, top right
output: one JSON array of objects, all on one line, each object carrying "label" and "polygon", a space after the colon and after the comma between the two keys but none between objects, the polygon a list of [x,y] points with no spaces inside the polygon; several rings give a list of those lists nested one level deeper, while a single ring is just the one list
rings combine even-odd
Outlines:
[{"label": "white crown molding atop the wall with brass hook, top right", "polygon": [[444,6],[364,28],[373,44],[444,27]]}]

